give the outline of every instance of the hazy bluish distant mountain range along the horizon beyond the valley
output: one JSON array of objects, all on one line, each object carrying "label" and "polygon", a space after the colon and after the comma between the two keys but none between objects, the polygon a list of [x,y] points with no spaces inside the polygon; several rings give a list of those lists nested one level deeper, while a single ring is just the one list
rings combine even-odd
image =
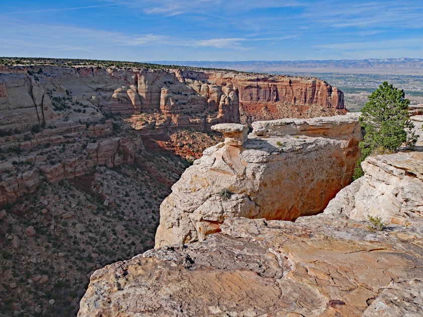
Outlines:
[{"label": "hazy bluish distant mountain range along the horizon beyond the valley", "polygon": [[247,61],[149,61],[165,65],[227,68],[257,72],[341,72],[423,75],[423,59],[341,59],[341,60],[247,60]]}]

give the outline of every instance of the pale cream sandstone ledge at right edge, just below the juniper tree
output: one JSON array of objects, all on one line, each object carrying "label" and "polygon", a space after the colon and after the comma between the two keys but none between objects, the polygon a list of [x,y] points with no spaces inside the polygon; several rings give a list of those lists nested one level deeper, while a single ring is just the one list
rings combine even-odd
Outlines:
[{"label": "pale cream sandstone ledge at right edge, just below the juniper tree", "polygon": [[423,216],[423,152],[370,156],[362,167],[365,176],[342,189],[326,213],[400,224]]}]

